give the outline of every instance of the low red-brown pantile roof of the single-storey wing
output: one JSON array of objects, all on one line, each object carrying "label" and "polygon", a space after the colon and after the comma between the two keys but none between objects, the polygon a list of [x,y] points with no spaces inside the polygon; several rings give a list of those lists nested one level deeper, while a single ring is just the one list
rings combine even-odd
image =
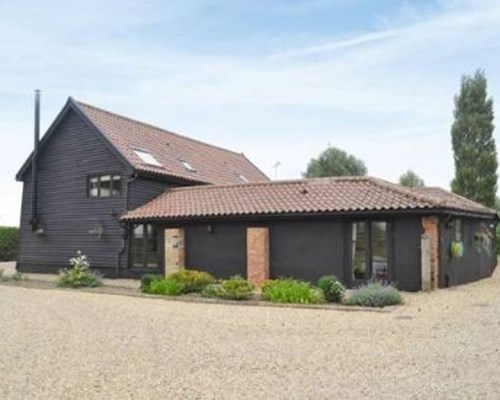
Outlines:
[{"label": "low red-brown pantile roof of the single-storey wing", "polygon": [[443,191],[442,197],[370,177],[316,178],[168,190],[125,220],[294,213],[451,209],[495,211]]}]

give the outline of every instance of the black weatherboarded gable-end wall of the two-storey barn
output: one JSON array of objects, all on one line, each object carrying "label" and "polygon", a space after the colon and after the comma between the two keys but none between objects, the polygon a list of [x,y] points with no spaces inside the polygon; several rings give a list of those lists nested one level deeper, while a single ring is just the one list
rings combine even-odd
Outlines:
[{"label": "black weatherboarded gable-end wall of the two-storey barn", "polygon": [[[24,175],[21,213],[21,271],[56,271],[67,266],[77,250],[96,268],[115,268],[122,247],[119,218],[125,194],[90,198],[88,176],[122,174],[126,169],[73,111],[69,111],[39,154],[38,212],[43,236],[31,232],[31,168]],[[101,238],[89,234],[96,225]]]}]

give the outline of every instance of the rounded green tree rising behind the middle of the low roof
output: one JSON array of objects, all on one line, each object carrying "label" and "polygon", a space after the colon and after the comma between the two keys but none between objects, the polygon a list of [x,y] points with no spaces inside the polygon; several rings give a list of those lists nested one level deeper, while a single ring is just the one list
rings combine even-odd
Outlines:
[{"label": "rounded green tree rising behind the middle of the low roof", "polygon": [[366,175],[365,163],[336,147],[328,147],[318,158],[313,158],[307,165],[304,176],[307,178],[322,176],[360,176]]}]

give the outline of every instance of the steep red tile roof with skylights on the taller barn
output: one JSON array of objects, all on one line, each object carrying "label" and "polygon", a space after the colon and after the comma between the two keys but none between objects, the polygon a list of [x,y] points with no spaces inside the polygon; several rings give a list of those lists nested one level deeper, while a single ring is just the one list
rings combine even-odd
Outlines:
[{"label": "steep red tile roof with skylights on the taller barn", "polygon": [[[244,182],[244,179],[248,182],[269,181],[269,178],[243,154],[85,103],[75,101],[75,104],[139,171],[217,185],[238,184]],[[144,163],[134,149],[148,151],[162,167]],[[189,171],[181,161],[186,161],[196,171]]]}]

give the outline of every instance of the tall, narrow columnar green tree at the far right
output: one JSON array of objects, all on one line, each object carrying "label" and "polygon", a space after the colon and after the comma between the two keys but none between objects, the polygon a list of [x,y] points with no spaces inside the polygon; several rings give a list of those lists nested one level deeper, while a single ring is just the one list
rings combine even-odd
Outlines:
[{"label": "tall, narrow columnar green tree at the far right", "polygon": [[489,207],[495,206],[497,152],[493,137],[493,100],[488,98],[483,71],[463,76],[455,96],[451,128],[455,178],[453,192]]}]

